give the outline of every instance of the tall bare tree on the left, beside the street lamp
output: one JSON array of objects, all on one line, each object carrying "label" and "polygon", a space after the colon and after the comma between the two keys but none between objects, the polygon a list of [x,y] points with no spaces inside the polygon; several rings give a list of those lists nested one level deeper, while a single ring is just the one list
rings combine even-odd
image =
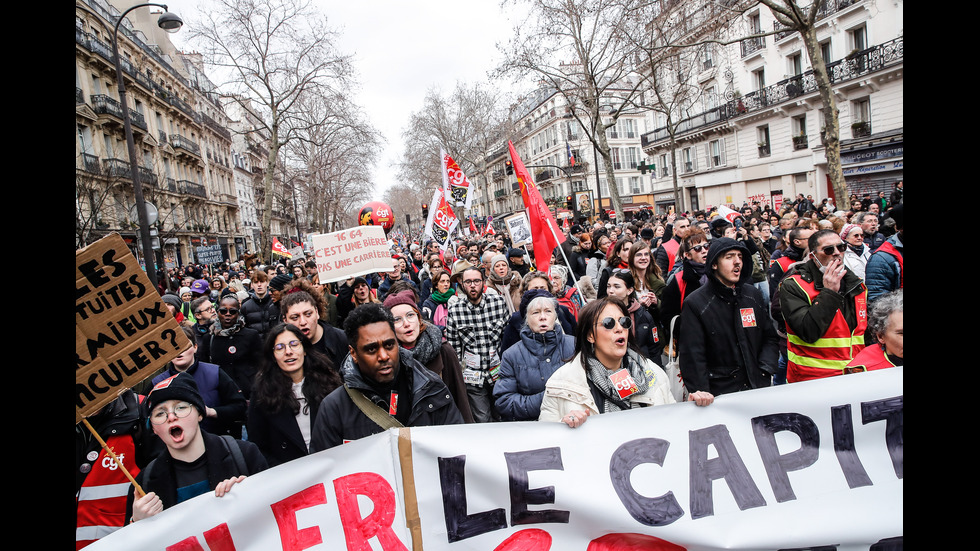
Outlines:
[{"label": "tall bare tree on the left, beside the street lamp", "polygon": [[203,21],[189,25],[192,40],[217,74],[226,75],[219,86],[255,102],[269,136],[260,234],[260,250],[268,254],[279,151],[336,116],[322,111],[320,119],[297,106],[305,97],[336,97],[351,89],[350,60],[338,52],[336,33],[308,0],[214,0],[202,12]]}]

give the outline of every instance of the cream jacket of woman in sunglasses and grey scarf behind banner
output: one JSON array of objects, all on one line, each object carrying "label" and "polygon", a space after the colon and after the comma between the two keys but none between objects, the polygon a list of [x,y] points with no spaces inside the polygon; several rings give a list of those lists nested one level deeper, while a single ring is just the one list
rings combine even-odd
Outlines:
[{"label": "cream jacket of woman in sunglasses and grey scarf behind banner", "polygon": [[[647,378],[652,379],[650,388],[643,394],[630,396],[630,402],[651,406],[673,404],[674,396],[670,393],[670,383],[664,370],[646,359],[643,368]],[[585,378],[581,354],[558,368],[558,371],[548,379],[538,421],[560,422],[562,417],[572,411],[588,411],[590,415],[599,414],[592,392],[589,390],[589,383]]]}]

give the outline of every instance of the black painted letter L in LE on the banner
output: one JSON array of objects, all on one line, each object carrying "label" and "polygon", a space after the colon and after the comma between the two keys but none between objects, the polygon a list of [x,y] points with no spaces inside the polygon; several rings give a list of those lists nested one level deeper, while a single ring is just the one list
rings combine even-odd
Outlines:
[{"label": "black painted letter L in LE on the banner", "polygon": [[443,515],[450,543],[507,528],[507,514],[502,508],[466,514],[465,467],[465,455],[439,458]]}]

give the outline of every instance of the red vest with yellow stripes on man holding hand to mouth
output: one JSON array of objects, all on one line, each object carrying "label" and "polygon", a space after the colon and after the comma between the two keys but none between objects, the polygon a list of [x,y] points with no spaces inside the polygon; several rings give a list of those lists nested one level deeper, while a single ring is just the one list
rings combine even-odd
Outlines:
[{"label": "red vest with yellow stripes on man holding hand to mouth", "polygon": [[[791,275],[785,284],[795,283],[813,304],[820,292],[813,283],[807,283],[799,275]],[[851,331],[844,314],[837,310],[827,331],[816,340],[806,342],[786,324],[786,381],[793,383],[809,379],[832,377],[844,373],[847,364],[864,349],[864,332],[868,327],[868,288],[861,284],[861,293],[854,297],[857,326]]]}]

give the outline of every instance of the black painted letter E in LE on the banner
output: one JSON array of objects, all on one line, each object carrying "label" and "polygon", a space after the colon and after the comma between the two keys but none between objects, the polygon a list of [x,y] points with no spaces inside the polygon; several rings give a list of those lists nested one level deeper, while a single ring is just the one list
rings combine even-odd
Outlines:
[{"label": "black painted letter E in LE on the banner", "polygon": [[510,479],[510,523],[537,524],[542,522],[568,522],[568,511],[544,509],[528,511],[528,505],[555,502],[555,487],[528,488],[528,471],[553,469],[565,470],[561,462],[561,448],[543,448],[524,452],[504,453],[507,475]]}]

